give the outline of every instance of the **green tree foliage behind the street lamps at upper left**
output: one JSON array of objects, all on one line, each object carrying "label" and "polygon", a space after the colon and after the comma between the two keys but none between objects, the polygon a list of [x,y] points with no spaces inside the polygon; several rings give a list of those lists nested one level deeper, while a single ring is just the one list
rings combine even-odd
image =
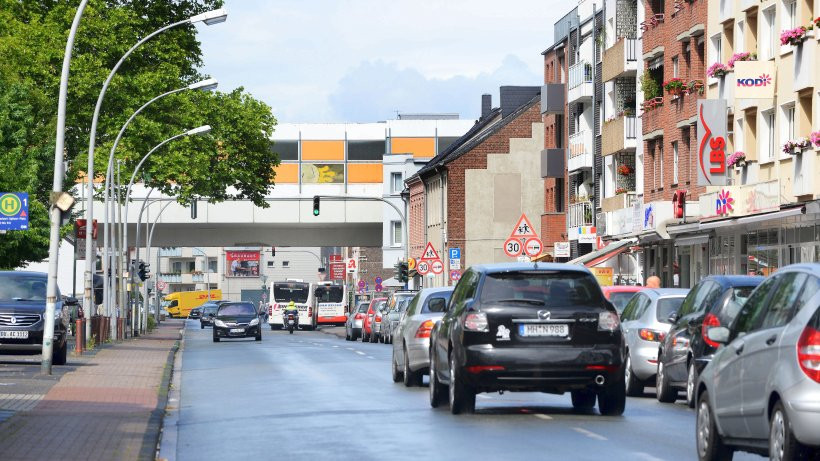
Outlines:
[{"label": "green tree foliage behind the street lamps at upper left", "polygon": [[[154,30],[221,6],[221,0],[91,0],[77,34],[67,102],[66,187],[84,176],[94,106],[109,71]],[[63,52],[79,0],[0,0],[0,191],[30,194],[31,230],[0,235],[0,267],[38,261],[47,253],[47,203],[53,175],[57,95]],[[218,26],[217,26],[218,27]],[[95,174],[105,173],[122,124],[145,102],[202,75],[202,51],[192,25],[154,37],[112,80],[102,106]],[[146,109],[116,152],[130,172],[153,146],[208,124],[208,136],[182,138],[146,163],[150,186],[181,203],[245,198],[266,207],[278,158],[269,137],[270,108],[243,89],[183,91]],[[125,172],[129,172],[128,175]]]}]

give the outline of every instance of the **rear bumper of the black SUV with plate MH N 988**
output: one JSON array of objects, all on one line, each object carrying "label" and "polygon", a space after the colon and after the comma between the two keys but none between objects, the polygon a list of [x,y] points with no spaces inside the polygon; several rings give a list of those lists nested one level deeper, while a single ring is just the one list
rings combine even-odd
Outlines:
[{"label": "rear bumper of the black SUV with plate MH N 988", "polygon": [[[510,347],[469,346],[464,380],[479,391],[521,390],[563,393],[623,376],[620,346]],[[472,367],[493,367],[481,369]]]}]

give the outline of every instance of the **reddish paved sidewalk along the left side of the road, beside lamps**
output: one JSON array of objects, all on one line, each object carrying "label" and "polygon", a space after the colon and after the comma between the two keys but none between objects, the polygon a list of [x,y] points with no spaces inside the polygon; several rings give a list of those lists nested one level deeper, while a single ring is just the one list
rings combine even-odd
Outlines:
[{"label": "reddish paved sidewalk along the left side of the road, beside lamps", "polygon": [[183,322],[69,357],[76,369],[0,424],[0,459],[153,460]]}]

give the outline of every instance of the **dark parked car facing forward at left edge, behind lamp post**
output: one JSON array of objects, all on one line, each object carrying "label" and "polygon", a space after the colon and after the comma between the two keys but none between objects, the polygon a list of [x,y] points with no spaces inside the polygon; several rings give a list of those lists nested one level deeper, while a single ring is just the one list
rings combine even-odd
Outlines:
[{"label": "dark parked car facing forward at left edge, behind lamp post", "polygon": [[[42,272],[0,272],[0,352],[39,354],[43,351],[47,278]],[[59,290],[57,299],[52,363],[65,365],[70,313],[63,309]]]}]

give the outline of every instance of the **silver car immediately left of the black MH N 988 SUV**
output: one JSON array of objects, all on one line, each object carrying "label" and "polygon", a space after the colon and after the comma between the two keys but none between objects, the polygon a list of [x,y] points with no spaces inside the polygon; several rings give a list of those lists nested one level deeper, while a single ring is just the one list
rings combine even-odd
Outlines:
[{"label": "silver car immediately left of the black MH N 988 SUV", "polygon": [[421,386],[430,372],[430,333],[444,316],[454,287],[426,288],[416,294],[396,326],[391,370],[393,382]]}]

